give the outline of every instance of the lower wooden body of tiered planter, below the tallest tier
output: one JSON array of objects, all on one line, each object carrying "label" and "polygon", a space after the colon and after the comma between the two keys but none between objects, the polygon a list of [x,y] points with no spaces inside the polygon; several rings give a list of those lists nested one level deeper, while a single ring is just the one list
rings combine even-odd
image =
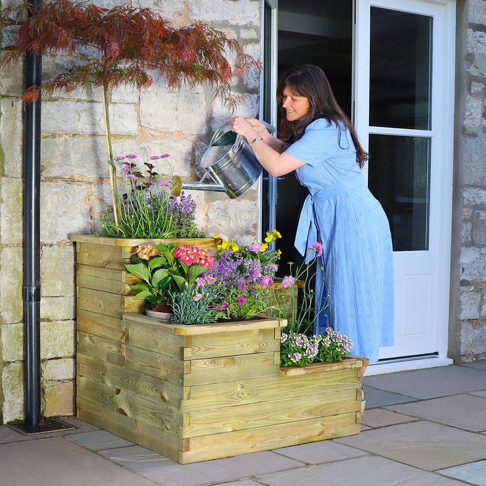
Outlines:
[{"label": "lower wooden body of tiered planter, below the tallest tier", "polygon": [[285,325],[78,332],[77,416],[181,464],[358,434],[363,359],[280,368]]}]

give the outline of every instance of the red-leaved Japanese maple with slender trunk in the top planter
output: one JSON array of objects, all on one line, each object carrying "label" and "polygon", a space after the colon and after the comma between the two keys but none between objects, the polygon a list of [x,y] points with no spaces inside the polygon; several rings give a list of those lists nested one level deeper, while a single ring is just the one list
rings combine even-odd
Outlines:
[{"label": "red-leaved Japanese maple with slender trunk in the top planter", "polygon": [[[28,16],[28,14],[35,14]],[[113,192],[115,170],[111,146],[108,102],[111,90],[122,85],[143,89],[156,78],[179,89],[207,85],[214,97],[234,109],[243,99],[231,92],[233,74],[244,75],[258,61],[243,52],[240,44],[202,22],[175,29],[149,8],[121,5],[102,8],[89,2],[46,0],[36,13],[29,3],[0,11],[0,27],[18,25],[17,42],[2,62],[17,61],[25,53],[79,56],[79,48],[90,48],[96,56],[81,58],[79,64],[60,72],[42,86],[28,87],[22,99],[31,103],[41,91],[51,95],[69,93],[77,87],[103,90],[104,121]],[[232,66],[226,52],[235,55]],[[116,205],[114,204],[115,219]]]}]

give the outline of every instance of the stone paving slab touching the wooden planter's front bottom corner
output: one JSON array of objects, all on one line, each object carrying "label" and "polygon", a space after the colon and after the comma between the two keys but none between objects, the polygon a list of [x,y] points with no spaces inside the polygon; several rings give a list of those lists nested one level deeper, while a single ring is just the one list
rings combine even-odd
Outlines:
[{"label": "stone paving slab touching the wooden planter's front bottom corner", "polygon": [[181,465],[141,446],[100,451],[104,457],[163,486],[199,486],[303,466],[271,451]]}]

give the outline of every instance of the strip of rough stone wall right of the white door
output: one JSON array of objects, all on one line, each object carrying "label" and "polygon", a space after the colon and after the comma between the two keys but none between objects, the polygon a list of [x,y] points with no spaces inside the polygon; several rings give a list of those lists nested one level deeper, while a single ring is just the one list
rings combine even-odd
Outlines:
[{"label": "strip of rough stone wall right of the white door", "polygon": [[456,164],[462,170],[454,183],[460,181],[456,203],[462,206],[462,234],[459,286],[452,283],[460,303],[452,317],[460,327],[460,358],[474,361],[486,358],[486,1],[468,0],[459,13],[464,30],[458,34],[457,86],[465,96],[464,108],[457,110],[456,104],[462,116],[462,126],[456,124]]}]

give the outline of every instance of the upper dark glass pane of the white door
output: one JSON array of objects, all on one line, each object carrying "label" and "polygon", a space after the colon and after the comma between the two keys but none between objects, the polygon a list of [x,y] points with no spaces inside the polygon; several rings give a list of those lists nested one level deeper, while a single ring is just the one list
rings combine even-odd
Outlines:
[{"label": "upper dark glass pane of the white door", "polygon": [[430,130],[432,17],[371,7],[369,124]]}]

